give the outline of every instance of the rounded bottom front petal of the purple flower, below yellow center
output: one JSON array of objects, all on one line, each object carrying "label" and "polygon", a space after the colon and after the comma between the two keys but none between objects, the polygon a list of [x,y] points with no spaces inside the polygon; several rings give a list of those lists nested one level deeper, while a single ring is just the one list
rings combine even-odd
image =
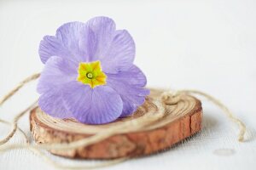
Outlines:
[{"label": "rounded bottom front petal of the purple flower, below yellow center", "polygon": [[63,99],[67,109],[79,121],[88,124],[113,122],[123,109],[122,99],[112,88],[90,88],[79,82],[68,83]]}]

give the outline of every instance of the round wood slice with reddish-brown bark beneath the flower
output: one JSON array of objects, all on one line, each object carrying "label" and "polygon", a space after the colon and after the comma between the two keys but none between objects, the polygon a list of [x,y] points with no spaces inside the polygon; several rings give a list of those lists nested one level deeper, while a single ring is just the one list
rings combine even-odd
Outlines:
[{"label": "round wood slice with reddish-brown bark beneath the flower", "polygon": [[[74,119],[58,119],[45,114],[38,107],[31,111],[30,124],[33,139],[40,144],[69,143],[119,123],[138,119],[148,111],[157,111],[153,101],[162,91],[151,90],[143,106],[132,116],[120,118],[104,125],[87,125]],[[74,150],[49,150],[58,156],[84,159],[112,159],[124,156],[143,156],[170,148],[201,130],[201,101],[182,95],[175,105],[166,105],[166,116],[140,132],[123,133],[104,139],[87,147]]]}]

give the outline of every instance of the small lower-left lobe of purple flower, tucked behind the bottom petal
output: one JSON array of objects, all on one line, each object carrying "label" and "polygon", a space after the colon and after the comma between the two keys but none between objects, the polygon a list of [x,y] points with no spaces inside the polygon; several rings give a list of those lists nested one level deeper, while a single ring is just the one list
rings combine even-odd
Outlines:
[{"label": "small lower-left lobe of purple flower, tucked behind the bottom petal", "polygon": [[67,111],[62,100],[61,89],[52,89],[40,95],[38,105],[41,110],[58,118],[73,117],[70,111]]}]

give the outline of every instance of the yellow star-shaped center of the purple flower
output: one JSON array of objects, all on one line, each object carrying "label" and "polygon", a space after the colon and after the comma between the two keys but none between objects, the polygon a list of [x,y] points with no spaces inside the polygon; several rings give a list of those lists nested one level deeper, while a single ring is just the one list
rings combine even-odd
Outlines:
[{"label": "yellow star-shaped center of the purple flower", "polygon": [[77,81],[90,85],[90,88],[106,84],[107,76],[102,71],[100,61],[79,63]]}]

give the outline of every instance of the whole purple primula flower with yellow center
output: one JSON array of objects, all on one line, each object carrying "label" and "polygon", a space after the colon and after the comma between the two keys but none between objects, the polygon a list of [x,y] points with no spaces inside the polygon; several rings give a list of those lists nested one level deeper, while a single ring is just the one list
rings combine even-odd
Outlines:
[{"label": "whole purple primula flower with yellow center", "polygon": [[129,116],[143,105],[146,77],[133,65],[135,43],[113,20],[96,17],[62,25],[45,36],[39,55],[39,106],[50,116],[102,124]]}]

